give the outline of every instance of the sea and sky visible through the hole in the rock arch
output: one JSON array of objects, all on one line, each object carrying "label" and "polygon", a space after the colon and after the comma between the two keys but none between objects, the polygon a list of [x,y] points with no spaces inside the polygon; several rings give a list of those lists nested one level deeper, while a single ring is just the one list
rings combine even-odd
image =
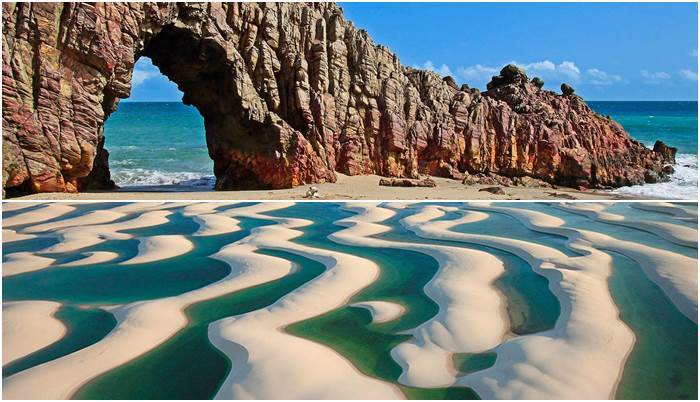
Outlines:
[{"label": "sea and sky visible through the hole in the rock arch", "polygon": [[129,191],[214,187],[204,120],[150,58],[134,66],[131,96],[105,121],[105,149],[115,184]]}]

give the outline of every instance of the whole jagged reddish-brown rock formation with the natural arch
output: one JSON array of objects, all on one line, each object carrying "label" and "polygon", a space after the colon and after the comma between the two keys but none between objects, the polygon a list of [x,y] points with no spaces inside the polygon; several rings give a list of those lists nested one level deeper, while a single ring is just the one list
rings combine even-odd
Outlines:
[{"label": "whole jagged reddish-brown rock formation with the natural arch", "polygon": [[103,125],[141,56],[204,117],[217,189],[336,171],[620,186],[673,162],[517,69],[480,93],[403,67],[331,3],[3,3],[2,18],[8,192],[113,185]]}]

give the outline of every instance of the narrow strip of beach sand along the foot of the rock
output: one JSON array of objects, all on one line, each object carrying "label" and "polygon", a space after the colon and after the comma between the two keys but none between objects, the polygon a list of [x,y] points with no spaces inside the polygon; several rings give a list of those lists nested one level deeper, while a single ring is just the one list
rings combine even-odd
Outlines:
[{"label": "narrow strip of beach sand along the foot of the rock", "polygon": [[[467,186],[462,182],[432,177],[437,187],[386,187],[377,175],[346,176],[338,174],[335,183],[313,184],[319,200],[631,200],[643,199],[601,190],[578,191],[572,188],[503,187],[505,195],[479,191],[488,185]],[[116,191],[32,194],[10,200],[300,200],[312,185],[281,190],[251,191],[177,191],[178,186],[123,188]],[[500,186],[499,186],[500,187]],[[182,189],[182,187],[179,187]],[[573,197],[573,198],[572,198]]]}]

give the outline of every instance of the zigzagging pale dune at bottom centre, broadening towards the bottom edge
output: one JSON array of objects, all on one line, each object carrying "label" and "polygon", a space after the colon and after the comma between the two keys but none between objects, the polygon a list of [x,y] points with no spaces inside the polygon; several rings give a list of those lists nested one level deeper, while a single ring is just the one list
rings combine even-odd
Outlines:
[{"label": "zigzagging pale dune at bottom centre, broadening towards the bottom edge", "polygon": [[[240,208],[250,217],[264,206]],[[269,217],[267,219],[270,219]],[[209,339],[233,362],[217,399],[394,399],[391,384],[369,378],[334,350],[284,332],[292,323],[344,305],[379,274],[373,262],[290,240],[311,224],[302,219],[275,218],[278,225],[256,228],[241,241],[255,247],[284,250],[316,260],[326,271],[271,306],[212,323]],[[314,364],[309,365],[310,359]],[[290,387],[288,384],[294,384]]]}]

